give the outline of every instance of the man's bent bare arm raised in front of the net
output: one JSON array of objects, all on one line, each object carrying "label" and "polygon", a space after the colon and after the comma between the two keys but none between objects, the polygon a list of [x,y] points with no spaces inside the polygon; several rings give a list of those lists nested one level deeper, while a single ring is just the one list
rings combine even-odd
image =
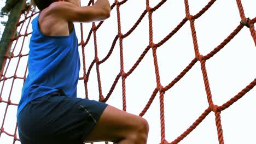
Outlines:
[{"label": "man's bent bare arm raised in front of the net", "polygon": [[108,0],[98,0],[92,6],[78,7],[69,2],[55,2],[50,5],[51,14],[72,22],[105,20],[110,16]]}]

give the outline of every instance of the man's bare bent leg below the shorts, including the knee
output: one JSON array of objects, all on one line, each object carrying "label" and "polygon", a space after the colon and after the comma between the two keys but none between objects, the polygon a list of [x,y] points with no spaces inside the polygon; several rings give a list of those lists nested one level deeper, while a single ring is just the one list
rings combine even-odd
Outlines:
[{"label": "man's bare bent leg below the shorts, including the knee", "polygon": [[146,119],[108,105],[84,142],[146,144],[148,131]]}]

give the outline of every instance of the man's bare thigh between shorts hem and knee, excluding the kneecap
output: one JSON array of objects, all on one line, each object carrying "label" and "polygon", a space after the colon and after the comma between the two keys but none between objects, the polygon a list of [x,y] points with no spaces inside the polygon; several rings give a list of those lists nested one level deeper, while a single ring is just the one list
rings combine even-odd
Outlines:
[{"label": "man's bare thigh between shorts hem and knee, excluding the kneecap", "polygon": [[139,116],[108,105],[84,142],[118,142],[135,130],[142,119]]}]

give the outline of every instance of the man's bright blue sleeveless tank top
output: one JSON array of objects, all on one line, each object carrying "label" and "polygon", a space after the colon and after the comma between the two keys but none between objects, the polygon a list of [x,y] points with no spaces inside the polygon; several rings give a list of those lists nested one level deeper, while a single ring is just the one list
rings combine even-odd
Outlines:
[{"label": "man's bright blue sleeveless tank top", "polygon": [[80,59],[75,29],[68,36],[49,36],[40,32],[38,17],[32,21],[28,55],[28,75],[22,87],[17,117],[31,100],[62,91],[77,97]]}]

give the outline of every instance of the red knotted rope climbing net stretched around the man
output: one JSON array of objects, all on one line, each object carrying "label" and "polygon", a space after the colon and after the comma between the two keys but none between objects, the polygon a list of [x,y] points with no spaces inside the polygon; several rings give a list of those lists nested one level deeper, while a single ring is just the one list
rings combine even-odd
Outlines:
[{"label": "red knotted rope climbing net stretched around the man", "polygon": [[[231,39],[233,39],[240,31],[242,28],[246,28],[248,29],[249,33],[251,33],[251,37],[252,37],[252,41],[254,42],[255,46],[256,46],[256,33],[255,33],[255,28],[254,28],[254,23],[256,22],[256,17],[250,17],[247,18],[245,16],[245,13],[243,11],[243,6],[241,3],[241,0],[237,0],[237,8],[238,11],[240,13],[240,17],[241,17],[241,22],[237,21],[237,27],[234,29],[234,31],[232,31],[228,37],[226,37],[222,43],[220,43],[217,47],[215,47],[210,53],[207,53],[207,55],[201,55],[201,53],[199,52],[199,45],[197,43],[197,35],[196,35],[196,28],[195,28],[195,21],[196,19],[199,19],[200,16],[202,16],[208,9],[210,9],[212,7],[212,5],[214,4],[214,0],[211,0],[210,2],[208,2],[205,7],[203,7],[199,13],[195,14],[195,15],[191,15],[190,13],[190,5],[188,0],[184,0],[184,5],[185,5],[185,17],[182,21],[179,22],[179,24],[172,30],[170,31],[170,33],[168,33],[166,35],[166,37],[164,39],[161,39],[158,43],[155,43],[155,41],[153,40],[153,20],[152,20],[152,16],[154,15],[154,12],[156,10],[158,10],[160,7],[163,7],[163,5],[165,5],[165,3],[167,2],[167,0],[163,0],[160,1],[158,4],[155,5],[155,7],[150,7],[149,5],[149,0],[146,0],[146,9],[144,9],[144,11],[142,12],[141,16],[139,17],[139,19],[136,21],[136,23],[129,29],[129,31],[127,31],[126,33],[124,33],[124,31],[122,31],[122,27],[121,27],[121,19],[120,19],[120,9],[122,7],[122,5],[124,5],[125,3],[128,3],[128,0],[124,0],[124,1],[115,1],[112,6],[112,13],[113,11],[117,12],[117,26],[118,26],[118,30],[117,30],[117,34],[114,37],[112,46],[109,49],[109,52],[107,53],[106,56],[104,56],[104,58],[100,59],[98,56],[98,47],[97,47],[97,32],[100,31],[99,29],[101,28],[102,25],[104,25],[104,22],[99,22],[99,23],[92,23],[92,27],[90,28],[90,31],[88,33],[83,32],[83,26],[84,24],[80,23],[80,31],[81,31],[81,39],[80,39],[80,46],[79,46],[79,50],[81,50],[80,56],[82,55],[82,61],[83,61],[83,69],[82,71],[80,71],[80,74],[83,74],[82,77],[79,78],[80,83],[84,83],[84,89],[85,89],[85,97],[89,98],[89,89],[88,89],[88,82],[89,82],[89,78],[90,78],[90,74],[91,74],[91,70],[94,67],[94,65],[96,66],[96,76],[97,76],[97,86],[98,86],[98,94],[99,94],[99,100],[103,101],[103,102],[107,102],[109,100],[109,98],[111,97],[111,95],[113,95],[113,91],[115,89],[115,87],[117,86],[118,81],[121,81],[121,88],[122,88],[122,95],[123,95],[123,110],[126,111],[126,80],[129,80],[129,76],[131,74],[133,74],[133,71],[135,71],[135,69],[138,67],[138,65],[141,63],[142,59],[147,55],[147,53],[152,50],[153,53],[153,64],[154,64],[154,69],[155,69],[155,80],[156,80],[156,87],[154,89],[149,89],[149,91],[153,90],[152,95],[150,96],[150,98],[148,99],[147,104],[146,103],[141,103],[141,104],[146,104],[144,106],[144,109],[141,111],[141,113],[139,113],[139,116],[144,116],[145,113],[148,111],[150,105],[152,105],[153,100],[155,99],[156,95],[159,93],[160,97],[160,125],[161,125],[161,130],[160,130],[160,135],[161,135],[161,143],[178,143],[180,141],[182,141],[184,139],[184,137],[186,137],[187,135],[189,135],[191,133],[191,131],[193,131],[197,125],[199,125],[203,119],[206,118],[206,116],[213,112],[215,115],[215,121],[216,121],[216,129],[217,129],[217,135],[218,135],[218,141],[219,143],[224,143],[224,135],[223,135],[223,128],[222,128],[222,121],[221,121],[221,117],[220,117],[220,112],[224,111],[225,109],[228,109],[228,107],[232,104],[234,104],[237,100],[241,99],[247,92],[249,92],[255,85],[256,85],[256,79],[252,80],[250,83],[248,83],[247,86],[245,86],[243,89],[241,89],[241,91],[239,93],[237,93],[236,95],[234,95],[234,97],[232,97],[230,100],[226,101],[226,103],[222,104],[222,105],[216,105],[214,104],[214,101],[212,99],[212,92],[210,89],[210,82],[208,80],[208,75],[207,75],[207,69],[206,69],[206,61],[210,58],[212,58],[214,55],[216,55],[217,52],[219,52],[220,50],[222,50],[224,48],[224,46],[226,44],[229,43],[229,41]],[[88,5],[91,5],[92,3],[94,3],[93,1],[90,1]],[[28,29],[28,27],[30,26],[30,22],[32,20],[32,17],[34,15],[36,15],[36,11],[31,9],[31,7],[27,7],[27,9],[24,9],[21,13],[21,17],[22,19],[20,20],[20,22],[17,24],[18,27],[18,35],[14,35],[14,37],[11,39],[11,42],[13,43],[12,45],[9,45],[9,49],[10,52],[8,52],[5,57],[4,57],[4,68],[2,69],[2,78],[1,78],[1,93],[0,93],[0,105],[1,105],[1,109],[3,109],[4,113],[1,113],[1,115],[3,114],[3,119],[2,119],[2,124],[0,127],[0,140],[1,137],[3,137],[3,134],[8,135],[10,141],[12,141],[13,143],[15,142],[19,142],[19,138],[18,138],[18,132],[17,132],[17,125],[15,126],[14,131],[7,131],[5,130],[5,127],[9,127],[9,125],[4,125],[4,123],[6,122],[6,117],[8,115],[8,109],[11,109],[11,107],[14,106],[14,109],[16,108],[16,106],[18,105],[18,101],[20,96],[19,95],[15,95],[14,97],[11,97],[11,95],[13,94],[13,91],[21,91],[22,88],[22,83],[26,80],[26,75],[27,75],[27,57],[28,57],[28,46],[25,44],[27,44],[28,42],[26,42],[26,38],[30,37],[31,32],[29,32],[30,30]],[[112,15],[115,16],[115,15]],[[148,16],[148,18],[146,18]],[[146,48],[144,49],[144,51],[141,53],[141,55],[139,56],[139,58],[137,59],[137,61],[132,65],[132,67],[125,71],[124,70],[124,58],[128,58],[125,57],[124,55],[124,46],[123,46],[123,41],[125,38],[129,37],[129,35],[135,31],[135,29],[138,27],[138,25],[141,23],[141,21],[143,19],[148,19],[148,24],[149,24],[149,40],[148,40],[148,46],[146,46]],[[170,83],[168,83],[168,85],[163,86],[161,85],[161,79],[160,79],[160,72],[159,72],[159,62],[158,62],[158,48],[162,45],[164,45],[166,43],[166,41],[170,40],[170,38],[176,34],[179,29],[181,29],[185,23],[189,23],[190,24],[190,28],[191,28],[191,34],[192,34],[192,38],[193,38],[193,44],[194,44],[194,54],[195,57],[193,59],[191,59],[191,62],[187,65],[187,67],[184,68],[184,70],[181,71],[181,73],[172,81],[170,81]],[[24,28],[25,27],[25,28]],[[94,41],[94,59],[92,62],[88,62],[85,61],[86,56],[88,55],[92,55],[91,53],[87,54],[86,53],[86,49],[85,47],[89,47],[89,41],[92,40]],[[118,43],[119,42],[119,43]],[[115,46],[119,45],[119,50],[120,50],[120,72],[118,72],[117,76],[114,79],[114,82],[112,84],[112,86],[110,87],[109,91],[107,94],[103,93],[103,89],[102,89],[102,79],[101,79],[101,73],[100,73],[100,66],[107,62],[108,59],[110,58],[110,56],[112,55],[112,52],[114,50]],[[11,47],[13,49],[11,49]],[[17,51],[16,49],[19,49],[19,53],[14,53],[14,51]],[[89,49],[89,48],[88,48]],[[119,61],[118,59],[116,61]],[[26,63],[25,67],[19,67],[20,63]],[[89,63],[89,67],[88,64]],[[202,112],[202,114],[194,121],[194,123],[187,129],[184,131],[184,133],[182,133],[180,136],[178,136],[176,139],[174,139],[171,142],[168,142],[166,139],[168,139],[168,137],[166,137],[165,134],[165,103],[164,103],[164,97],[165,97],[165,93],[167,91],[169,91],[174,85],[176,85],[176,83],[178,81],[180,81],[182,79],[182,77],[188,73],[188,71],[196,64],[196,63],[200,63],[201,65],[201,73],[203,76],[203,82],[205,85],[205,91],[206,91],[206,96],[207,96],[207,100],[208,100],[208,107],[206,107],[205,111]],[[14,75],[8,76],[8,69],[10,67],[10,65],[16,65],[16,68],[14,70]],[[22,75],[18,75],[17,74],[17,70],[18,69],[22,69],[24,71],[24,74]],[[19,82],[18,82],[19,81]],[[22,81],[22,83],[21,83]],[[109,80],[107,80],[109,81]],[[10,83],[9,86],[7,86],[6,83]],[[15,84],[16,83],[16,84]],[[3,91],[8,91],[9,94],[5,94],[3,95]],[[16,98],[18,97],[18,98]],[[16,103],[14,103],[13,101],[16,101]],[[3,105],[4,104],[4,105]],[[9,121],[9,120],[8,120]],[[15,121],[15,120],[14,120]],[[149,142],[150,143],[150,142]]]}]

